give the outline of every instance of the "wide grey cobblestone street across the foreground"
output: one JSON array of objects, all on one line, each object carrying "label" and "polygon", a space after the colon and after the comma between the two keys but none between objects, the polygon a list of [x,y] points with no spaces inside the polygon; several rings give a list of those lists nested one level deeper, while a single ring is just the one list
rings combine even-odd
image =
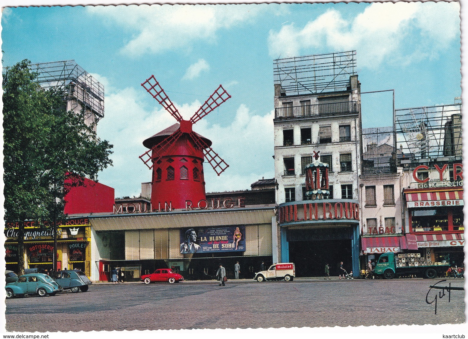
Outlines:
[{"label": "wide grey cobblestone street across the foreground", "polygon": [[[7,331],[67,332],[463,323],[464,291],[434,303],[439,280],[94,284],[86,293],[7,300]],[[439,284],[463,286],[464,280]],[[441,290],[432,289],[433,301]]]}]

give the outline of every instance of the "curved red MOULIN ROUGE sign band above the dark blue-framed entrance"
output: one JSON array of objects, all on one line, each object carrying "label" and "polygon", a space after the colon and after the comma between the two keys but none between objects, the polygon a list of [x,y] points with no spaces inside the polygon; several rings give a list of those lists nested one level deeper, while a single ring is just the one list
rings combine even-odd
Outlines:
[{"label": "curved red MOULIN ROUGE sign band above the dark blue-framed entrance", "polygon": [[[302,211],[301,211],[302,210]],[[280,206],[279,223],[296,221],[359,220],[359,204],[355,202],[315,202]]]}]

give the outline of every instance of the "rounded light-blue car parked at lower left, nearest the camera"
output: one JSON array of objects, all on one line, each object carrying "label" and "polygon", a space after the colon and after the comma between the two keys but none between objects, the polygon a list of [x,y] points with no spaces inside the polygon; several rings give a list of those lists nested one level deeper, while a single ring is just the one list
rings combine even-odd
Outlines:
[{"label": "rounded light-blue car parked at lower left, nearest the camera", "polygon": [[15,295],[56,295],[60,286],[47,274],[30,273],[18,277],[15,282],[5,285],[7,299]]}]

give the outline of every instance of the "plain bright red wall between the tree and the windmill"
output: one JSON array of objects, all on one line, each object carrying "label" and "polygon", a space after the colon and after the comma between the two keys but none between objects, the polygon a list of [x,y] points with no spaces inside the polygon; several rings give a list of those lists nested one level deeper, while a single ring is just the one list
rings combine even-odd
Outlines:
[{"label": "plain bright red wall between the tree and the windmill", "polygon": [[114,189],[85,178],[84,186],[72,187],[65,196],[65,201],[66,214],[112,213]]}]

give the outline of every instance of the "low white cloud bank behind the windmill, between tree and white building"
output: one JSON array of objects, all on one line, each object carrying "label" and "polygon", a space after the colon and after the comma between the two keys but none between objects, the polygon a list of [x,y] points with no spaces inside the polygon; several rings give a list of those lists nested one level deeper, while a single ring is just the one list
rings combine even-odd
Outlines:
[{"label": "low white cloud bank behind the windmill, between tree and white building", "polygon": [[[103,84],[108,83],[98,74],[93,76]],[[115,187],[116,197],[139,195],[140,184],[151,180],[151,170],[139,159],[139,155],[147,150],[142,145],[143,140],[176,123],[158,103],[154,107],[145,105],[146,99],[146,92],[134,88],[106,89],[105,117],[97,129],[101,139],[114,145],[114,154],[111,155],[114,166],[105,169],[99,180]],[[201,105],[198,101],[174,104],[185,119],[190,118]],[[228,114],[226,105],[219,107],[219,113],[211,114]],[[207,192],[249,189],[250,184],[261,177],[274,177],[271,158],[273,111],[259,115],[240,105],[230,125],[210,125],[202,119],[193,128],[212,140],[213,150],[229,164],[229,168],[218,177],[205,162]],[[263,167],[265,163],[267,167]]]}]

